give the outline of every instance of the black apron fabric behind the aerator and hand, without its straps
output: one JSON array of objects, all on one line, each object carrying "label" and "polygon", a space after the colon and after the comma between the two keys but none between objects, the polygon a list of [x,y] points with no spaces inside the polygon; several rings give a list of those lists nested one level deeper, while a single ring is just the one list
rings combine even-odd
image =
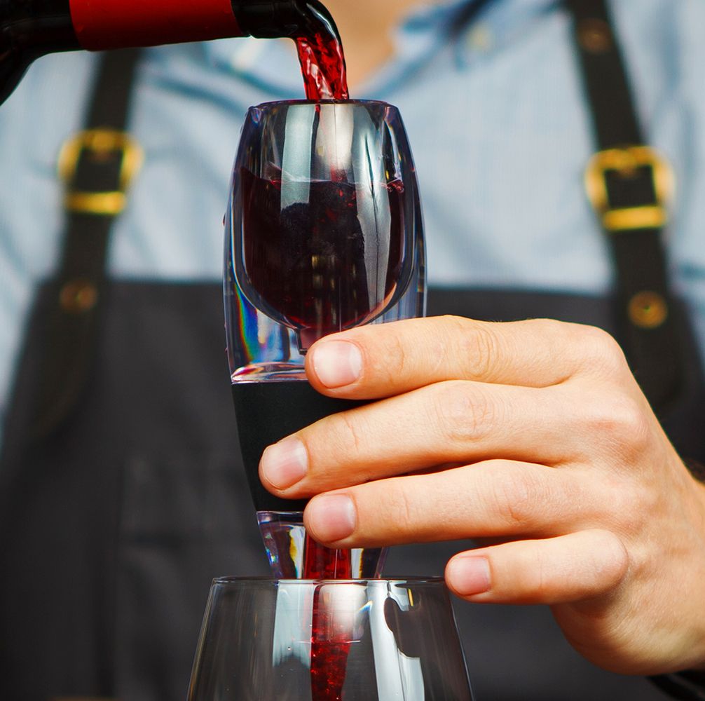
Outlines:
[{"label": "black apron fabric behind the aerator and hand, without its straps", "polygon": [[[104,281],[80,401],[37,438],[32,402],[59,286],[37,295],[0,465],[0,699],[185,698],[212,578],[268,566],[240,465],[219,284]],[[429,314],[551,317],[619,333],[614,300],[431,291]],[[661,412],[705,460],[701,363],[687,324]],[[48,347],[49,346],[49,347]],[[468,543],[392,549],[388,575],[439,575]],[[586,662],[545,606],[458,602],[478,701],[656,701],[644,678]]]}]

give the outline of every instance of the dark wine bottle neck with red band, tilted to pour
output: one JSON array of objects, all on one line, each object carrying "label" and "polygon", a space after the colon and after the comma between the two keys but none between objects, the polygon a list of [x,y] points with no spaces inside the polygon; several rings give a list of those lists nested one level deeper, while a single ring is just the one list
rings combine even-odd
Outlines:
[{"label": "dark wine bottle neck with red band, tilted to pour", "polygon": [[0,104],[39,56],[56,51],[290,37],[335,27],[319,0],[0,0]]}]

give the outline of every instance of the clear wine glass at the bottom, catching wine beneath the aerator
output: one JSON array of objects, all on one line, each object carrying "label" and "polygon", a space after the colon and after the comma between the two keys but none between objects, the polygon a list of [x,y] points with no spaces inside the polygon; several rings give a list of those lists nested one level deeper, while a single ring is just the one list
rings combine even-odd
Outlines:
[{"label": "clear wine glass at the bottom, catching wine beneath the aerator", "polygon": [[214,580],[188,701],[472,701],[440,579]]}]

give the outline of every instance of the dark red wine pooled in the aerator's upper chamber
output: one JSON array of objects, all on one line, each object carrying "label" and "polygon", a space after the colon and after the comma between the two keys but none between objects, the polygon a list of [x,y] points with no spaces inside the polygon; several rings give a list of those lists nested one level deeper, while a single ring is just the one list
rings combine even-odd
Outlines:
[{"label": "dark red wine pooled in the aerator's upper chamber", "polygon": [[283,208],[281,179],[243,169],[240,182],[243,288],[255,306],[298,332],[302,351],[386,309],[404,258],[400,181],[380,186],[382,203],[355,183],[310,181],[307,201]]}]

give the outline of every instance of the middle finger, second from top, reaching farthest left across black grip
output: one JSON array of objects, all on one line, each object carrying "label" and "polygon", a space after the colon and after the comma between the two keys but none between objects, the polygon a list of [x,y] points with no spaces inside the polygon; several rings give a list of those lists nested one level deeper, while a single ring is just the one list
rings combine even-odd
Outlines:
[{"label": "middle finger, second from top, reaching farthest left across black grip", "polygon": [[586,390],[576,403],[564,386],[438,382],[331,415],[270,446],[260,479],[271,492],[299,498],[446,463],[577,461],[591,427],[607,435],[605,403],[590,409],[590,396]]}]

